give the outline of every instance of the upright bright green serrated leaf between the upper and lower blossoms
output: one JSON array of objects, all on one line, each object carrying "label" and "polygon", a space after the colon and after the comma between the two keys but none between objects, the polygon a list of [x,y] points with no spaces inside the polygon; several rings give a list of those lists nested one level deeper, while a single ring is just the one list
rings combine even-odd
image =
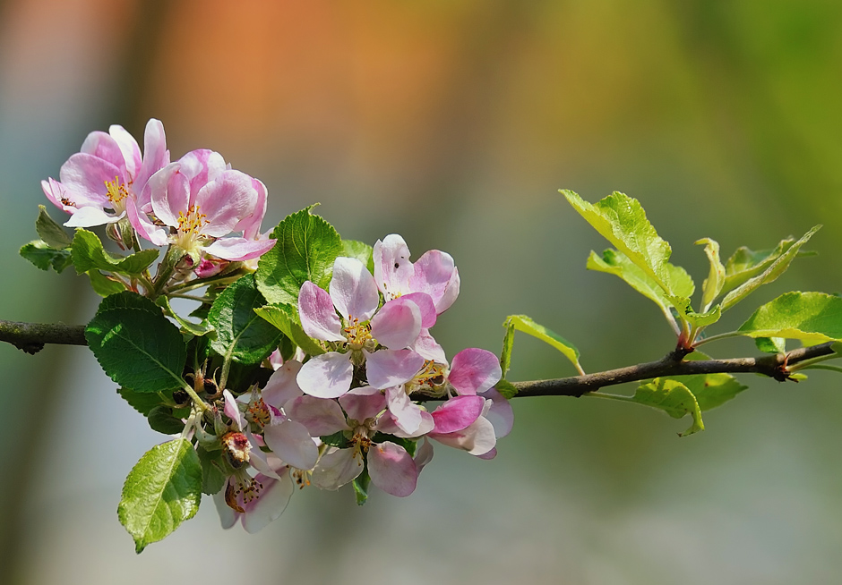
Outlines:
[{"label": "upright bright green serrated leaf between the upper and lower blossoms", "polygon": [[306,281],[328,288],[333,261],[345,253],[342,239],[333,226],[310,210],[287,216],[272,231],[278,240],[262,255],[255,273],[257,288],[267,301],[298,303],[298,291]]}]

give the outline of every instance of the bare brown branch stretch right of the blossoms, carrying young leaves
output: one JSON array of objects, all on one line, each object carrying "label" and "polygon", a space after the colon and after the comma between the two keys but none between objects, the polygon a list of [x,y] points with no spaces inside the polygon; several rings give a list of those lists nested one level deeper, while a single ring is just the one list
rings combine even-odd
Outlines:
[{"label": "bare brown branch stretch right of the blossoms, carrying young leaves", "polygon": [[692,374],[742,374],[755,373],[773,377],[778,382],[792,379],[788,366],[835,353],[833,342],[812,347],[802,347],[792,352],[765,355],[759,358],[735,358],[732,360],[676,360],[670,352],[665,358],[641,363],[627,368],[609,369],[585,376],[562,377],[554,380],[512,382],[518,388],[518,396],[576,396],[594,392],[605,386],[626,382],[639,382],[651,377],[691,376]]}]

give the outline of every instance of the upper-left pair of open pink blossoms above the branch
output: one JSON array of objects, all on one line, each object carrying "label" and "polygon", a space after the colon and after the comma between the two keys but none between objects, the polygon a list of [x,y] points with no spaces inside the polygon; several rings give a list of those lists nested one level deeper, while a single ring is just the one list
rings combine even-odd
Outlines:
[{"label": "upper-left pair of open pink blossoms above the branch", "polygon": [[[135,246],[134,234],[171,245],[180,267],[198,277],[257,259],[275,243],[260,233],[266,186],[212,150],[193,150],[171,163],[159,120],[146,124],[143,152],[122,126],[90,132],[59,178],[42,181],[41,188],[71,215],[64,225],[107,225],[125,249]],[[224,237],[230,233],[242,235]]]}]

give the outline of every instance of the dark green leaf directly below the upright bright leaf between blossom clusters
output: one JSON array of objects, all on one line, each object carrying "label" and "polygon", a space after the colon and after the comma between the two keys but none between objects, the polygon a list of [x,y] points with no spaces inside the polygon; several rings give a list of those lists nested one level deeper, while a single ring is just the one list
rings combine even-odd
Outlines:
[{"label": "dark green leaf directly below the upright bright leaf between blossom clusters", "polygon": [[278,329],[254,314],[265,304],[254,276],[243,276],[213,301],[208,320],[217,331],[211,347],[219,355],[243,364],[260,363],[275,351]]}]

